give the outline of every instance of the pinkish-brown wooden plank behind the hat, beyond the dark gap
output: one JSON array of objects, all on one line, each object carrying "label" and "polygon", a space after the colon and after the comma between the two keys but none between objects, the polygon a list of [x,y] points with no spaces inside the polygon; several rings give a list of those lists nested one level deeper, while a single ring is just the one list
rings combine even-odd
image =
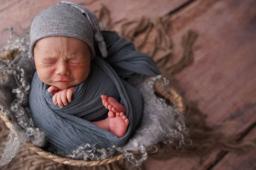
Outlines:
[{"label": "pinkish-brown wooden plank behind the hat, beyond the dark gap", "polygon": [[[0,0],[0,32],[12,26],[18,33],[30,26],[32,18],[45,8],[55,5],[60,0]],[[104,4],[111,11],[113,22],[122,18],[133,19],[142,15],[157,17],[175,10],[188,0],[71,0],[90,10],[99,9]],[[93,2],[93,3],[91,3]],[[8,31],[0,40],[0,47],[6,44]]]}]

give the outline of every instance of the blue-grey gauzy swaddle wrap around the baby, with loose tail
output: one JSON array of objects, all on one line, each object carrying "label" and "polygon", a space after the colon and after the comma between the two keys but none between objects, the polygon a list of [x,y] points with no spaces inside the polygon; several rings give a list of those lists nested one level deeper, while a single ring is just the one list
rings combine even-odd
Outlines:
[{"label": "blue-grey gauzy swaddle wrap around the baby, with loose tail", "polygon": [[[135,51],[132,42],[113,31],[102,31],[102,34],[108,57],[102,59],[96,48],[89,77],[76,85],[72,101],[67,106],[54,105],[52,94],[47,92],[49,86],[41,82],[36,73],[33,77],[29,94],[32,119],[35,126],[46,133],[46,149],[50,148],[52,152],[70,153],[86,143],[96,144],[96,147],[123,146],[139,124],[143,113],[142,96],[138,89],[120,77],[134,73],[156,76],[160,71],[148,55]],[[101,94],[116,97],[125,105],[130,121],[125,136],[118,138],[89,122],[108,112],[102,105]]]}]

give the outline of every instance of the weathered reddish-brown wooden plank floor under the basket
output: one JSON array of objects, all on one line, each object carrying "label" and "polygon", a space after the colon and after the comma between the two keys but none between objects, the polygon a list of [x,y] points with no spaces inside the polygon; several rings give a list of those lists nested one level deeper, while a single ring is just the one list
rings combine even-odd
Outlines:
[{"label": "weathered reddish-brown wooden plank floor under the basket", "polygon": [[[57,2],[0,0],[0,31],[8,26],[21,31],[19,25],[26,28],[39,11]],[[193,0],[191,3],[189,0],[159,0],[157,3],[154,0],[97,0],[90,5],[86,5],[84,0],[73,2],[91,10],[103,3],[111,11],[113,21],[141,15],[154,18],[171,12],[169,35],[174,42],[174,59],[182,54],[182,35],[188,29],[197,31],[199,37],[193,48],[195,61],[175,75],[181,90],[187,99],[198,102],[211,127],[235,139],[252,128],[245,139],[256,137],[255,0]],[[180,8],[185,3],[188,4]],[[0,46],[6,43],[7,37],[8,34],[4,33]],[[149,158],[143,169],[256,169],[255,150],[244,155],[227,153],[218,161],[219,153],[220,150],[212,151],[201,160],[202,164],[198,156],[174,157],[165,161]]]}]

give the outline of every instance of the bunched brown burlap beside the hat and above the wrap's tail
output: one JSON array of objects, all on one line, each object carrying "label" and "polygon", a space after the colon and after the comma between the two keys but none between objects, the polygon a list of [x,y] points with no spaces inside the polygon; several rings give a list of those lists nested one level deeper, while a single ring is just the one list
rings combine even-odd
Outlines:
[{"label": "bunched brown burlap beside the hat and above the wrap's tail", "polygon": [[[193,30],[189,30],[182,37],[182,56],[179,57],[176,63],[170,62],[170,58],[174,56],[173,42],[171,37],[168,36],[169,16],[156,17],[154,20],[145,16],[134,20],[124,18],[112,23],[110,11],[104,5],[96,10],[96,16],[103,28],[115,30],[120,36],[133,41],[136,49],[151,56],[166,74],[173,75],[193,62],[192,45],[198,37],[198,34]],[[168,62],[168,65],[166,65],[166,62]]]}]

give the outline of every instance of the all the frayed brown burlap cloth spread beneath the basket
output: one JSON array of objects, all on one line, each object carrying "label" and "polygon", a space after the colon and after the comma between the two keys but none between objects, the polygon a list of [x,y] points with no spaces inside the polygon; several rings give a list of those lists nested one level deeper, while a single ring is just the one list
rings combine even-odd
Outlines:
[{"label": "all the frayed brown burlap cloth spread beneath the basket", "polygon": [[[193,62],[193,51],[192,45],[197,38],[195,31],[189,30],[182,38],[183,55],[179,57],[176,63],[165,66],[163,63],[169,62],[170,57],[173,56],[173,43],[171,38],[168,36],[169,29],[169,16],[159,17],[152,21],[147,17],[140,17],[135,20],[122,19],[112,23],[110,18],[110,12],[105,6],[96,12],[96,15],[101,22],[101,27],[108,30],[115,29],[121,36],[134,42],[137,50],[143,51],[144,49],[150,49],[149,51],[143,51],[149,54],[161,70],[173,77],[174,74],[181,71],[186,66]],[[6,49],[8,50],[8,49]],[[19,50],[22,51],[22,50]],[[0,54],[1,58],[13,59],[19,54],[15,52],[6,52]],[[159,56],[158,52],[161,51]],[[157,56],[157,57],[156,57]],[[6,58],[5,58],[6,57]],[[256,146],[255,140],[239,141],[230,136],[225,136],[218,130],[214,130],[207,126],[206,116],[202,113],[196,105],[192,102],[186,102],[187,111],[185,114],[186,125],[190,127],[189,135],[192,139],[193,144],[186,146],[182,150],[174,150],[177,143],[164,144],[159,143],[157,145],[157,153],[151,154],[156,159],[170,159],[172,156],[205,156],[213,149],[220,149],[224,151],[231,151],[236,153],[242,153],[249,150],[251,147]],[[3,121],[0,120],[0,136],[1,140],[7,138],[9,129],[4,125]],[[3,141],[0,142],[0,148],[5,144]],[[1,148],[2,149],[2,148]],[[154,150],[154,148],[152,148]],[[170,150],[172,150],[170,152]],[[140,169],[140,167],[132,167],[126,160],[120,160],[111,164],[105,164],[96,167],[72,167],[65,164],[46,159],[39,156],[27,147],[20,147],[16,158],[12,164],[5,167],[1,167],[2,170],[128,170],[128,169]]]}]

